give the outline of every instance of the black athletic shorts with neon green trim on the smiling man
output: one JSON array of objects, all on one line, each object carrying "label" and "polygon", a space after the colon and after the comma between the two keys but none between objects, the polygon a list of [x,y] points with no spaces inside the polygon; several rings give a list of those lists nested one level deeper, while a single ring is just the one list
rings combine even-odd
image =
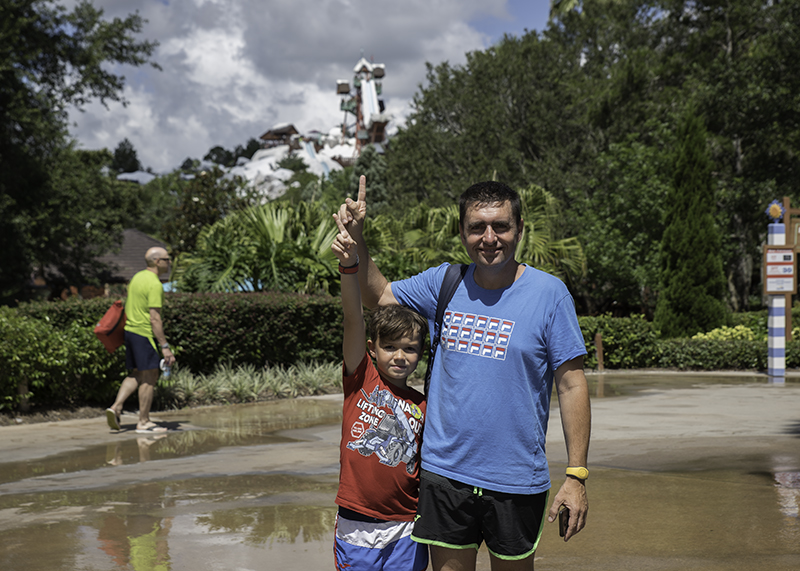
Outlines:
[{"label": "black athletic shorts with neon green trim on the smiling man", "polygon": [[506,494],[420,470],[419,505],[412,539],[450,549],[478,549],[486,541],[500,559],[536,551],[549,492]]}]

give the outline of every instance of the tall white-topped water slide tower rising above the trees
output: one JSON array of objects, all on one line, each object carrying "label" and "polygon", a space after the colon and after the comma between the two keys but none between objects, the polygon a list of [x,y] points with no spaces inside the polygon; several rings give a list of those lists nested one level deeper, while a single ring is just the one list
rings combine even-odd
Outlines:
[{"label": "tall white-topped water slide tower rising above the trees", "polygon": [[342,96],[339,108],[344,111],[342,136],[347,137],[348,116],[355,117],[350,124],[356,137],[356,156],[361,154],[364,145],[381,143],[386,139],[386,125],[391,116],[384,111],[380,80],[386,74],[382,63],[372,63],[364,56],[353,68],[353,86],[346,79],[336,80],[336,93]]}]

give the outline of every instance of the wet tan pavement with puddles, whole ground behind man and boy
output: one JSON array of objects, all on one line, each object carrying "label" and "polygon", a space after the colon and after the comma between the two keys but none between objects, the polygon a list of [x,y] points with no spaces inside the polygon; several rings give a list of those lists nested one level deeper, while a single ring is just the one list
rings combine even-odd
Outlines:
[{"label": "wet tan pavement with puddles, whole ground behind man and boy", "polygon": [[[800,569],[800,378],[589,375],[586,529],[537,570]],[[0,569],[332,569],[341,396],[0,428]],[[566,461],[554,403],[554,486]],[[485,550],[479,569],[489,569]]]}]

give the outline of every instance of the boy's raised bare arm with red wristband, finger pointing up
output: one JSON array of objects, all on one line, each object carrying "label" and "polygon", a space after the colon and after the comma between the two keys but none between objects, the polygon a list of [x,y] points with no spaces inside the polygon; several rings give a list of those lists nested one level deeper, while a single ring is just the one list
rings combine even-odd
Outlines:
[{"label": "boy's raised bare arm with red wristband, finger pointing up", "polygon": [[361,307],[361,289],[358,285],[358,244],[350,237],[338,214],[333,215],[339,234],[331,244],[333,255],[339,260],[342,278],[342,309],[344,311],[344,336],[342,353],[346,375],[356,370],[366,352],[367,336],[364,331],[364,311]]}]

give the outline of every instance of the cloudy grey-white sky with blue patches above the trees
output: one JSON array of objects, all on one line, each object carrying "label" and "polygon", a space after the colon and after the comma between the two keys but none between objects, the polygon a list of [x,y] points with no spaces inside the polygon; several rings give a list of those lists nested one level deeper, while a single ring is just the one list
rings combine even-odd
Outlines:
[{"label": "cloudy grey-white sky with blue patches above the trees", "polygon": [[[71,7],[75,0],[64,0]],[[70,114],[82,148],[128,138],[156,172],[232,149],[289,122],[301,132],[340,125],[337,79],[363,54],[386,65],[383,99],[401,122],[425,62],[459,64],[503,33],[542,30],[549,0],[93,0],[106,18],[139,11],[151,67],[121,67],[123,107]]]}]

